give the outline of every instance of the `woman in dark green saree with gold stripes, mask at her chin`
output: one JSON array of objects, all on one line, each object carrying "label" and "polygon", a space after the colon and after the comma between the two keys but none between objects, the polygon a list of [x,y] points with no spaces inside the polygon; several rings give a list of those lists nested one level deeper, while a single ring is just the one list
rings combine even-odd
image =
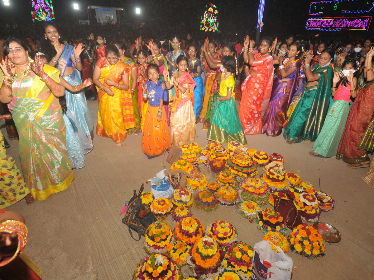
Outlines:
[{"label": "woman in dark green saree with gold stripes, mask at her chin", "polygon": [[334,51],[327,49],[319,56],[319,63],[310,68],[312,52],[306,56],[304,72],[307,78],[304,93],[292,114],[283,136],[288,143],[303,140],[315,141],[321,132],[330,105],[331,77],[330,65]]}]

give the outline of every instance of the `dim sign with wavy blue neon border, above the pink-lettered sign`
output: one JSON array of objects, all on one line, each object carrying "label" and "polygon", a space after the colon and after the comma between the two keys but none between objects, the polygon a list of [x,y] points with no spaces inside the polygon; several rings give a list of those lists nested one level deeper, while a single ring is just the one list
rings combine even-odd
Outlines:
[{"label": "dim sign with wavy blue neon border, above the pink-lettered sign", "polygon": [[374,0],[331,0],[310,2],[309,15],[339,16],[374,11]]}]

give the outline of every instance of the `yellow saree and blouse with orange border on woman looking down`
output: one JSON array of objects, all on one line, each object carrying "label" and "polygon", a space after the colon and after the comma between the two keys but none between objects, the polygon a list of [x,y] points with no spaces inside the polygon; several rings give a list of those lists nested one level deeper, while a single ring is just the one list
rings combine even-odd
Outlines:
[{"label": "yellow saree and blouse with orange border on woman looking down", "polygon": [[105,57],[99,59],[96,66],[101,68],[99,81],[114,93],[114,96],[110,96],[96,87],[99,100],[96,134],[110,137],[114,142],[121,143],[127,136],[127,130],[136,127],[132,96],[129,90],[110,86],[104,79],[123,84],[122,75],[127,74],[129,68],[121,61],[108,66]]}]

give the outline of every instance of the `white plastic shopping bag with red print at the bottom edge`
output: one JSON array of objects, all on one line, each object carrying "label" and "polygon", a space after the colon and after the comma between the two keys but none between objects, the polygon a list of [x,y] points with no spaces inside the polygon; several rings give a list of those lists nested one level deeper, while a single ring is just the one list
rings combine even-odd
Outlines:
[{"label": "white plastic shopping bag with red print at the bottom edge", "polygon": [[[270,247],[272,244],[279,253]],[[292,276],[292,259],[281,248],[263,240],[253,246],[252,279],[289,280]]]}]

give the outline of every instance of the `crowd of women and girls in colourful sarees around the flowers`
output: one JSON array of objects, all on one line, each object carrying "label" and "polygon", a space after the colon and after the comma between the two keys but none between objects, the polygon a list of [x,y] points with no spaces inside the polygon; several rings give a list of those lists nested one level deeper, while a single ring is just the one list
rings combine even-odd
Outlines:
[{"label": "crowd of women and girls in colourful sarees around the flowers", "polygon": [[69,39],[46,24],[40,40],[0,41],[0,118],[9,139],[19,139],[24,175],[3,150],[1,168],[12,179],[1,195],[12,195],[3,195],[0,208],[23,197],[31,205],[70,186],[72,169],[84,167],[93,149],[87,99],[98,100],[96,135],[124,146],[128,134],[141,134],[148,158],[193,141],[200,122],[208,141],[247,144],[245,135],[283,132],[289,144],[315,142],[311,156],[370,167],[370,38],[289,35],[256,44],[249,36],[199,41],[187,34],[129,42],[82,27],[85,35],[75,30]]}]

